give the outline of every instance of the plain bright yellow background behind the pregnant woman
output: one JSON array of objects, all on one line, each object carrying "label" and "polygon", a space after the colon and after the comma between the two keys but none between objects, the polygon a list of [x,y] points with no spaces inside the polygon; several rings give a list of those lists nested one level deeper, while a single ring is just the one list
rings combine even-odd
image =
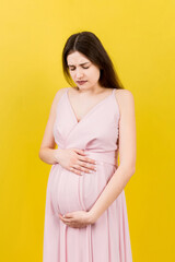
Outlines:
[{"label": "plain bright yellow background behind the pregnant woman", "polygon": [[54,96],[69,86],[63,45],[81,31],[100,37],[135,96],[137,168],[125,189],[133,261],[175,261],[173,0],[1,1],[0,261],[42,261],[50,165],[38,151]]}]

